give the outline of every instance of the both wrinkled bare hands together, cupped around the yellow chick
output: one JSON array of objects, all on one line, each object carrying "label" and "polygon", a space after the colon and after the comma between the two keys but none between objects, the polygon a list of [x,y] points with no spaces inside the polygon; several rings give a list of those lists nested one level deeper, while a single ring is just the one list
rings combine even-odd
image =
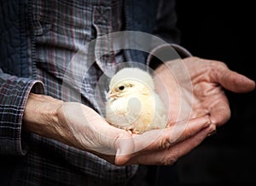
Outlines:
[{"label": "both wrinkled bare hands together, cupped around the yellow chick", "polygon": [[251,79],[230,71],[219,61],[183,59],[189,78],[170,73],[170,67],[176,64],[170,61],[155,71],[156,90],[166,99],[170,113],[164,130],[131,135],[108,125],[93,109],[78,102],[34,94],[26,103],[23,130],[96,154],[117,166],[172,165],[230,119],[223,88],[237,93],[255,88]]}]

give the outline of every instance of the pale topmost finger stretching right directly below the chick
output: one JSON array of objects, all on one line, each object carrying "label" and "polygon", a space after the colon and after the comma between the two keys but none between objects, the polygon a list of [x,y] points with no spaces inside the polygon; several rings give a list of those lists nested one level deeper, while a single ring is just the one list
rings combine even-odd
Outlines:
[{"label": "pale topmost finger stretching right directly below the chick", "polygon": [[211,120],[204,116],[172,125],[163,130],[145,132],[135,137],[135,150],[141,153],[170,148],[173,144],[194,136],[209,125],[211,125]]}]

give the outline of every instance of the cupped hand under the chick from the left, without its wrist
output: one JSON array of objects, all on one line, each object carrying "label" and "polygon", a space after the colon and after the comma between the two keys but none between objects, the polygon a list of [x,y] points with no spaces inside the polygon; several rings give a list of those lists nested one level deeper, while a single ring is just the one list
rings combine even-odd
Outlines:
[{"label": "cupped hand under the chick from the left, without its wrist", "polygon": [[[163,130],[131,135],[109,125],[93,109],[65,102],[58,111],[59,141],[96,154],[117,166],[171,165],[201,143],[214,128],[208,117],[180,122]],[[189,137],[193,142],[186,142]]]}]

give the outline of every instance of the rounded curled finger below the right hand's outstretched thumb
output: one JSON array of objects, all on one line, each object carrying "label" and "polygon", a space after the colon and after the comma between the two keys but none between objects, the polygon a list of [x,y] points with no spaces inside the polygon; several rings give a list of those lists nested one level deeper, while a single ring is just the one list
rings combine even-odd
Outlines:
[{"label": "rounded curled finger below the right hand's outstretched thumb", "polygon": [[210,110],[210,119],[216,126],[224,125],[230,119],[230,115],[228,102],[218,102]]}]

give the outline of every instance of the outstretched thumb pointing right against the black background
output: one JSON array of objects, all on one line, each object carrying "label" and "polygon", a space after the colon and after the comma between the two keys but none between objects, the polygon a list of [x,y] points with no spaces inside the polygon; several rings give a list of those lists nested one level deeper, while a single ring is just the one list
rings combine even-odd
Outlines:
[{"label": "outstretched thumb pointing right against the black background", "polygon": [[236,93],[244,93],[255,89],[255,82],[252,79],[230,71],[228,68],[216,72],[218,74],[218,83],[227,90]]}]

